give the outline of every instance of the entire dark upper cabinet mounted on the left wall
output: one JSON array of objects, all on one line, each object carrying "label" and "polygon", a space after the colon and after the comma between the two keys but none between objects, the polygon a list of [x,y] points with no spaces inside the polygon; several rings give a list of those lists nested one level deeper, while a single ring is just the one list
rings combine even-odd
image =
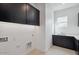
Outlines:
[{"label": "entire dark upper cabinet mounted on the left wall", "polygon": [[27,3],[0,3],[0,21],[40,25],[39,10]]}]

